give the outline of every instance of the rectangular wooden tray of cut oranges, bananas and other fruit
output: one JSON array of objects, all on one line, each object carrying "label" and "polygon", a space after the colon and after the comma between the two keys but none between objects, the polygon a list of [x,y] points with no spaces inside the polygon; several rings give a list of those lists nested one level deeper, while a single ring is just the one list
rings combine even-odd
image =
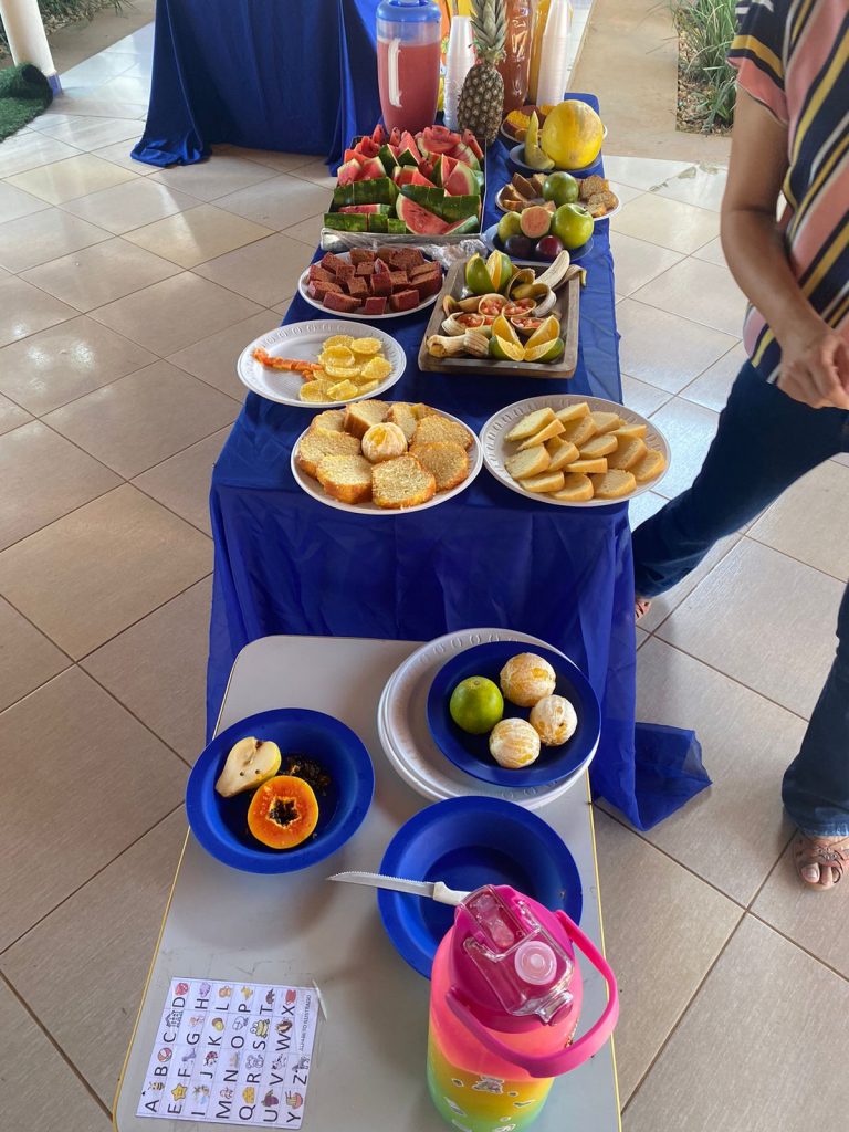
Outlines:
[{"label": "rectangular wooden tray of cut oranges, bananas and other fruit", "polygon": [[539,273],[517,267],[503,251],[454,264],[424,332],[419,368],[571,377],[583,278],[567,251]]}]

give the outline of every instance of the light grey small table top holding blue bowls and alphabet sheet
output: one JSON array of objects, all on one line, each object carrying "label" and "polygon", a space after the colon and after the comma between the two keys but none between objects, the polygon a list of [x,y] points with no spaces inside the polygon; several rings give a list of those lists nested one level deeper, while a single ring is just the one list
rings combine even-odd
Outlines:
[{"label": "light grey small table top holding blue bowls and alphabet sheet", "polygon": [[[331,884],[345,869],[379,868],[395,831],[426,805],[396,777],[377,737],[377,702],[409,641],[272,636],[241,651],[216,730],[272,707],[335,715],[362,739],[375,764],[375,799],[363,825],[336,854],[300,873],[257,876],[220,864],[187,835],[144,989],[114,1106],[119,1132],[203,1132],[208,1124],[137,1117],[147,1062],[172,977],[310,986],[319,1019],[303,1126],[308,1132],[439,1132],[424,1063],[429,984],[386,936],[375,892]],[[581,927],[602,945],[586,778],[539,815],[568,846],[583,887]],[[583,966],[588,970],[588,964]],[[604,1006],[604,984],[588,971],[584,1018]],[[581,1030],[578,1030],[581,1032]],[[555,1082],[539,1132],[617,1132],[612,1043]]]}]

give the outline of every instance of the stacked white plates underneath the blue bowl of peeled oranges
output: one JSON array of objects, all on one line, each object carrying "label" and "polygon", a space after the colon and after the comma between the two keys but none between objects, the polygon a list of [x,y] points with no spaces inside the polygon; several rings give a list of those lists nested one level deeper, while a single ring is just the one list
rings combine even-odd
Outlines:
[{"label": "stacked white plates underneath the blue bowl of peeled oranges", "polygon": [[[426,798],[439,801],[478,795],[505,798],[528,809],[539,809],[560,797],[583,777],[592,755],[567,779],[550,786],[511,790],[464,774],[439,751],[428,728],[427,698],[436,674],[452,657],[490,641],[515,641],[552,649],[538,637],[499,628],[461,629],[430,641],[408,657],[386,681],[377,707],[380,743],[398,775]],[[554,651],[559,652],[558,649]]]}]

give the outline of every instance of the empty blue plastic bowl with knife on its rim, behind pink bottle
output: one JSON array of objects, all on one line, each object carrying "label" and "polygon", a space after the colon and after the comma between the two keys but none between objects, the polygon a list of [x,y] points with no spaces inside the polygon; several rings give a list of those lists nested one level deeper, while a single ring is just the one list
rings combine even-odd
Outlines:
[{"label": "empty blue plastic bowl with knife on its rim, behind pink bottle", "polygon": [[[389,842],[380,872],[470,892],[511,884],[581,921],[583,893],[572,854],[541,817],[500,798],[448,798],[419,811]],[[388,889],[380,890],[377,903],[401,958],[429,979],[454,908]]]}]

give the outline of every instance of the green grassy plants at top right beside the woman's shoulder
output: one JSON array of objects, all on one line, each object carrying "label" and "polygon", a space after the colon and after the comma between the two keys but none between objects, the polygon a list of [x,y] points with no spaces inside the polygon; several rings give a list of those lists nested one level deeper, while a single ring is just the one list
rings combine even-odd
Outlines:
[{"label": "green grassy plants at top right beside the woman's shoulder", "polygon": [[706,127],[730,126],[737,97],[737,72],[728,49],[737,32],[735,0],[672,0],[681,40],[684,74],[700,89]]}]

